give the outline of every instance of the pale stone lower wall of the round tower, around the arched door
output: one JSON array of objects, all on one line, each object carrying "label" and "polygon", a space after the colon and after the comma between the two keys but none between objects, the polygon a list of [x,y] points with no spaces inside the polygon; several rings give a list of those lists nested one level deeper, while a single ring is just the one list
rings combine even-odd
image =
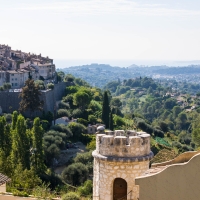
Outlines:
[{"label": "pale stone lower wall of the round tower, around the arched door", "polygon": [[113,200],[115,178],[127,182],[127,199],[137,200],[139,187],[135,178],[142,176],[149,169],[149,161],[142,162],[107,162],[94,159],[93,200]]}]

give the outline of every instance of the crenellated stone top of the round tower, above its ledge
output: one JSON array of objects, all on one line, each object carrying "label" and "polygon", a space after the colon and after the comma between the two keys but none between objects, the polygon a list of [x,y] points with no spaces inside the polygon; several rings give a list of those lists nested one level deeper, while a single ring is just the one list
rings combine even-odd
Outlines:
[{"label": "crenellated stone top of the round tower, above its ledge", "polygon": [[138,157],[150,154],[150,135],[135,130],[108,131],[96,136],[96,152],[103,156]]}]

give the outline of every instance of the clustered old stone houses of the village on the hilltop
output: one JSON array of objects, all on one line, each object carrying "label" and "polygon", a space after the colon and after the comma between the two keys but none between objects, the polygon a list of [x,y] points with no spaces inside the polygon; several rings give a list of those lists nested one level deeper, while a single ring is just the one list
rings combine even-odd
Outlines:
[{"label": "clustered old stone houses of the village on the hilltop", "polygon": [[33,80],[54,80],[53,59],[0,45],[0,86],[10,83],[11,89],[18,89],[29,77]]}]

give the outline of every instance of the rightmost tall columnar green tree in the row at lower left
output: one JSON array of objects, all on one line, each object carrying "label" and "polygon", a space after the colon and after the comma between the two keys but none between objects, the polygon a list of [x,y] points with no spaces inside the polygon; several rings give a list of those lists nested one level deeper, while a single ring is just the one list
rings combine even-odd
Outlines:
[{"label": "rightmost tall columnar green tree in the row at lower left", "polygon": [[43,128],[40,125],[39,117],[34,119],[33,128],[31,130],[33,137],[33,147],[31,149],[32,165],[37,173],[42,173],[45,170],[44,151],[43,151]]}]

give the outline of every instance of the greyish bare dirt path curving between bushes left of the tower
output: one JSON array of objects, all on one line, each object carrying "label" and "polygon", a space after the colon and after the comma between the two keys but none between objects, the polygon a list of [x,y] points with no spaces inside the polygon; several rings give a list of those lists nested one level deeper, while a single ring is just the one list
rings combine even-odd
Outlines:
[{"label": "greyish bare dirt path curving between bushes left of the tower", "polygon": [[56,174],[61,174],[63,169],[66,167],[65,163],[70,159],[76,157],[77,153],[84,153],[86,151],[85,145],[81,142],[77,142],[76,146],[78,148],[69,148],[66,150],[62,150],[60,157],[58,159],[58,167],[55,168]]}]

